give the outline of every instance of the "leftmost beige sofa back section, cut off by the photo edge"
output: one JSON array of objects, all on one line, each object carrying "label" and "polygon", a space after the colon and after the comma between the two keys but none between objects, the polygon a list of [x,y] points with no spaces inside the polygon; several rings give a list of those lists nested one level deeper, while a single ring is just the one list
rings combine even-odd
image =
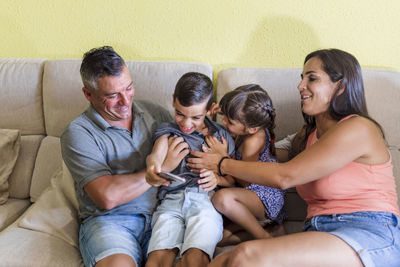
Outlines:
[{"label": "leftmost beige sofa back section, cut off by the photo edge", "polygon": [[0,59],[0,128],[19,129],[21,147],[9,178],[12,198],[27,198],[41,140],[45,134],[42,105],[44,59]]}]

